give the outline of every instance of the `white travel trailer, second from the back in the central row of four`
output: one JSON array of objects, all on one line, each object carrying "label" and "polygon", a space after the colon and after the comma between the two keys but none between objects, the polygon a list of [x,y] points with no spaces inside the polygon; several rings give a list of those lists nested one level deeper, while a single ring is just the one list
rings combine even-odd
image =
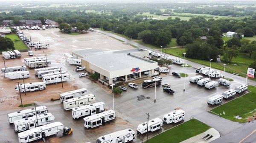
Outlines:
[{"label": "white travel trailer, second from the back in the central row of four", "polygon": [[71,98],[71,99],[63,101],[63,108],[65,110],[70,110],[72,108],[92,104],[92,101],[94,101],[94,100],[95,100],[95,95],[93,95],[93,94],[87,94],[84,96]]}]

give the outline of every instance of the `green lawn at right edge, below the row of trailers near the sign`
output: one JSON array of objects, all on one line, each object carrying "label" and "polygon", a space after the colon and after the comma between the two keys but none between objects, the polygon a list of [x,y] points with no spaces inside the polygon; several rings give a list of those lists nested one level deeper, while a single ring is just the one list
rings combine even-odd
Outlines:
[{"label": "green lawn at right edge, below the row of trailers near the sign", "polygon": [[[211,112],[217,113],[220,117],[226,118],[231,121],[244,123],[247,118],[252,118],[256,113],[256,87],[249,86],[250,93],[243,95],[233,101],[216,107]],[[223,114],[225,112],[225,114]],[[234,116],[239,115],[242,119],[236,119]]]}]

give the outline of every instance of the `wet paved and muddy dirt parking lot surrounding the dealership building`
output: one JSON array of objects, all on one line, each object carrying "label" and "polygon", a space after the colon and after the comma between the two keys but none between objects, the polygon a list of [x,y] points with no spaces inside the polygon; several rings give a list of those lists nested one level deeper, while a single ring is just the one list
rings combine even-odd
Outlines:
[{"label": "wet paved and muddy dirt parking lot surrounding the dealership building", "polygon": [[[136,131],[137,125],[147,120],[145,113],[150,114],[150,119],[163,118],[164,114],[171,112],[175,108],[181,108],[186,112],[185,121],[187,121],[192,116],[201,114],[202,112],[212,108],[211,106],[207,105],[207,98],[215,94],[221,94],[228,89],[233,89],[234,87],[240,85],[240,81],[232,81],[230,87],[218,86],[214,89],[207,90],[204,87],[198,87],[196,84],[189,83],[189,78],[196,75],[195,68],[188,67],[184,72],[182,67],[173,64],[171,65],[170,73],[177,72],[186,73],[189,75],[189,77],[186,78],[177,78],[171,75],[163,77],[162,84],[171,84],[172,90],[175,91],[173,95],[163,92],[163,87],[157,87],[156,103],[154,103],[154,87],[148,89],[143,89],[140,87],[137,90],[133,90],[128,87],[126,92],[123,92],[120,96],[115,96],[114,98],[117,117],[116,120],[110,121],[109,123],[96,127],[95,129],[86,129],[83,126],[82,118],[80,120],[74,120],[72,118],[71,111],[65,111],[60,101],[50,101],[50,98],[56,98],[58,97],[59,93],[65,91],[84,87],[89,93],[96,95],[96,102],[103,101],[106,109],[113,109],[112,95],[89,79],[79,78],[78,75],[81,72],[74,71],[75,67],[70,66],[67,64],[67,62],[65,62],[63,53],[86,48],[121,50],[132,47],[125,45],[118,40],[93,32],[90,32],[87,35],[83,34],[70,36],[59,33],[58,29],[47,29],[46,31],[24,31],[24,34],[27,36],[32,36],[34,41],[50,44],[50,47],[47,50],[44,50],[44,52],[43,50],[37,50],[35,52],[36,55],[42,56],[47,54],[49,59],[52,61],[50,66],[62,66],[68,71],[68,73],[70,73],[70,81],[64,83],[64,89],[61,88],[61,84],[52,84],[47,85],[47,89],[44,91],[28,93],[28,95],[24,95],[24,93],[22,94],[24,97],[24,102],[33,101],[36,102],[38,106],[47,106],[49,112],[55,116],[55,121],[60,121],[64,124],[64,126],[70,126],[73,128],[73,135],[62,138],[48,137],[47,142],[49,143],[94,143],[97,137],[121,129],[131,128]],[[88,41],[85,39],[88,39]],[[26,53],[24,54],[26,55]],[[15,60],[10,59],[6,64],[20,65],[24,57],[25,56],[22,56],[21,59]],[[1,63],[1,67],[3,67],[3,63]],[[40,81],[33,76],[33,70],[29,71],[31,77],[26,79],[27,82]],[[9,97],[14,96],[14,98],[7,98],[3,103],[0,103],[0,140],[3,141],[3,143],[17,143],[17,134],[13,131],[12,125],[8,124],[6,116],[7,113],[15,112],[17,105],[19,105],[19,100],[17,99],[18,94],[14,90],[14,82],[20,80],[9,82],[9,79],[3,79],[3,74],[1,75],[1,78],[2,82],[0,86],[3,87],[0,91],[1,98],[5,98],[6,94]],[[213,80],[217,81],[217,79]],[[183,92],[184,81],[186,81],[185,92]],[[140,96],[140,98],[138,98],[138,96]],[[160,132],[171,128],[172,126],[174,125],[163,125],[161,130],[154,133],[150,132],[149,137],[157,135]],[[60,133],[58,136],[60,136]],[[139,143],[145,140],[145,138],[146,134],[136,135],[134,143]]]}]

